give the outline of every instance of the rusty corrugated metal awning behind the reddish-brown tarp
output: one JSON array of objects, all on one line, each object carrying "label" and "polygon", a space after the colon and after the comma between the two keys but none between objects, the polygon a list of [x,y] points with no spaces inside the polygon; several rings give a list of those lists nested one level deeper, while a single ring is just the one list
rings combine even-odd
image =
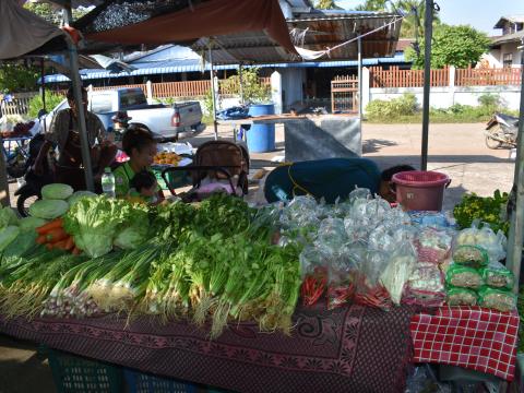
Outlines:
[{"label": "rusty corrugated metal awning behind the reddish-brown tarp", "polygon": [[[320,53],[321,56],[308,60],[321,61],[357,59],[356,37],[359,35],[362,35],[364,58],[393,57],[401,23],[402,16],[392,13],[333,10],[313,10],[287,20],[291,40],[299,53],[305,57],[305,60],[308,53]],[[352,43],[340,46],[352,39]],[[191,48],[204,53],[209,41],[207,37],[201,38]],[[340,47],[326,50],[335,46]],[[205,52],[206,57],[207,55]],[[213,38],[212,57],[213,62],[217,64],[302,60],[301,57],[284,51],[261,32],[228,34]]]}]

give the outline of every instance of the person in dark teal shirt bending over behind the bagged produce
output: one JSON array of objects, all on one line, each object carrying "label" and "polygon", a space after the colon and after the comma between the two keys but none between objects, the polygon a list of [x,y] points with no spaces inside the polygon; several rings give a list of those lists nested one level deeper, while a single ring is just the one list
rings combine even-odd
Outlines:
[{"label": "person in dark teal shirt bending over behind the bagged produce", "polygon": [[327,158],[294,163],[275,168],[266,178],[264,195],[267,202],[291,200],[296,195],[311,194],[334,203],[344,200],[355,188],[367,188],[388,202],[395,202],[391,178],[400,171],[415,170],[400,165],[380,172],[368,158]]}]

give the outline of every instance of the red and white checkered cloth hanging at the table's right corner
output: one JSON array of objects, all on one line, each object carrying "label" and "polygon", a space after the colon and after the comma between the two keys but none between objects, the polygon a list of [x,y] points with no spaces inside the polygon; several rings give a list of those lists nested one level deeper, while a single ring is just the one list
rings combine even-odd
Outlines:
[{"label": "red and white checkered cloth hanging at the table's right corner", "polygon": [[512,381],[519,314],[479,307],[441,307],[412,318],[415,362],[461,366]]}]

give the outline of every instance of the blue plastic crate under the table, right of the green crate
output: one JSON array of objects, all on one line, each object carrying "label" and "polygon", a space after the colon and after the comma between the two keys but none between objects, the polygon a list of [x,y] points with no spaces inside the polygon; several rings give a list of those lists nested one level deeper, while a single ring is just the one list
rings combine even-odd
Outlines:
[{"label": "blue plastic crate under the table, right of the green crate", "polygon": [[159,378],[130,369],[123,370],[123,377],[129,393],[196,393],[196,385]]}]

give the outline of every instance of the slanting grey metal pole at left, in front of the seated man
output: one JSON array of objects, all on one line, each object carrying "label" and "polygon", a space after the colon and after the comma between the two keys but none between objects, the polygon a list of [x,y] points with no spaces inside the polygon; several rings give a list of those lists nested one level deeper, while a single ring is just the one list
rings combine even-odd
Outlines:
[{"label": "slanting grey metal pole at left, in front of the seated man", "polygon": [[[71,2],[68,2],[64,5],[63,12],[63,23],[69,25],[70,21],[73,20],[71,11]],[[95,191],[95,183],[93,181],[93,167],[91,165],[91,152],[90,152],[90,142],[87,140],[87,128],[85,126],[85,112],[83,110],[84,105],[82,103],[82,82],[80,80],[79,72],[79,52],[76,51],[76,45],[73,43],[71,37],[67,36],[66,41],[68,43],[69,49],[69,61],[71,67],[71,81],[73,83],[74,91],[74,100],[76,102],[78,116],[79,116],[79,126],[80,126],[80,142],[82,150],[82,163],[84,165],[85,172],[85,186],[88,191]]]}]

